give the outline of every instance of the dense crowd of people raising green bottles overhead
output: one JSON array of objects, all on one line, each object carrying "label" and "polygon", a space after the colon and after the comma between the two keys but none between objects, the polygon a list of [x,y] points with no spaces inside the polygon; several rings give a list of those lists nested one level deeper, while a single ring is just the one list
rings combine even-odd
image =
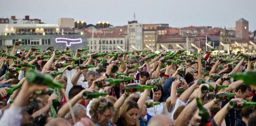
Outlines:
[{"label": "dense crowd of people raising green bottles overhead", "polygon": [[21,43],[1,50],[0,126],[256,125],[254,55]]}]

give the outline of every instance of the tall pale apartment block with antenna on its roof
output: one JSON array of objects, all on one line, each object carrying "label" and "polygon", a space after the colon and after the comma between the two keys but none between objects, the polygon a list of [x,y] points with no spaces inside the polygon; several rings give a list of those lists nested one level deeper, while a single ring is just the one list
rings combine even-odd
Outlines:
[{"label": "tall pale apartment block with antenna on its roof", "polygon": [[128,21],[128,51],[142,50],[142,25],[137,21]]}]

